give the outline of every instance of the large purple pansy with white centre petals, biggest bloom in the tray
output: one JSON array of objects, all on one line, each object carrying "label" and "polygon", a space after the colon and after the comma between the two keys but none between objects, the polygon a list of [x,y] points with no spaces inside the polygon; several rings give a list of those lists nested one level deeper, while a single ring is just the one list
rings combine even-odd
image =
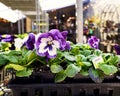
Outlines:
[{"label": "large purple pansy with white centre petals, biggest bloom in the tray", "polygon": [[42,33],[36,41],[36,51],[39,56],[55,58],[57,49],[65,50],[70,46],[66,40],[65,35],[57,29],[50,30],[47,33]]}]

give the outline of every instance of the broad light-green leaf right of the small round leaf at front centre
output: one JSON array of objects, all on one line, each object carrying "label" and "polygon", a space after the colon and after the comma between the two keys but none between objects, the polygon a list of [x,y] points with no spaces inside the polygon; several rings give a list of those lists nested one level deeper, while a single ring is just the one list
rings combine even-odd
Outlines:
[{"label": "broad light-green leaf right of the small round leaf at front centre", "polygon": [[80,70],[81,67],[75,66],[74,64],[70,64],[67,66],[65,73],[68,77],[74,77]]}]

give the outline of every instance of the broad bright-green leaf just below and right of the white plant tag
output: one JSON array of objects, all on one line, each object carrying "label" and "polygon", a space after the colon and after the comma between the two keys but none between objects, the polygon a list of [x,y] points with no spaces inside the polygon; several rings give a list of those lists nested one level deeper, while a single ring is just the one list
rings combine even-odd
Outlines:
[{"label": "broad bright-green leaf just below and right of the white plant tag", "polygon": [[99,68],[106,74],[106,75],[112,75],[114,73],[116,73],[117,67],[115,67],[114,65],[107,65],[107,64],[101,64],[99,66]]}]

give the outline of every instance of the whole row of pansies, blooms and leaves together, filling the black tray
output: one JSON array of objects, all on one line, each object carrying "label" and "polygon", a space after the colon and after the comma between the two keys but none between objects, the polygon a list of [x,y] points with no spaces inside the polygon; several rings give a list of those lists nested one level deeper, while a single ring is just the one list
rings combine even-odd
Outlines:
[{"label": "whole row of pansies, blooms and leaves together, filling the black tray", "polygon": [[23,39],[14,39],[15,50],[1,51],[0,66],[12,70],[17,77],[46,72],[54,74],[55,82],[80,75],[98,83],[119,71],[120,60],[119,55],[99,50],[99,42],[91,36],[87,44],[73,44],[67,41],[67,31],[57,29],[29,33]]}]

